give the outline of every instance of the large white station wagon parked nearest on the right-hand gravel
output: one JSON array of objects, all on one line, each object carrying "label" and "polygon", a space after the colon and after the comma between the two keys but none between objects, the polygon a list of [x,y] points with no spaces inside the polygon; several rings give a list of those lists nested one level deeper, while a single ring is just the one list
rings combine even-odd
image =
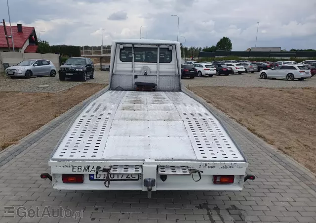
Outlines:
[{"label": "large white station wagon parked nearest on the right-hand gravel", "polygon": [[288,81],[294,81],[294,79],[303,81],[310,77],[312,77],[311,71],[302,64],[285,64],[260,72],[261,79],[285,78]]}]

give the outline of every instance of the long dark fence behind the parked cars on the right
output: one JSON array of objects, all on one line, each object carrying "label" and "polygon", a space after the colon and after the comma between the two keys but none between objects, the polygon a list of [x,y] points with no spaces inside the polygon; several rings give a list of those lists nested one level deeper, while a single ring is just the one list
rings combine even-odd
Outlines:
[{"label": "long dark fence behind the parked cars on the right", "polygon": [[311,58],[316,57],[316,51],[215,51],[215,52],[203,52],[198,53],[198,57],[225,57],[225,56],[238,56],[238,57],[303,57]]}]

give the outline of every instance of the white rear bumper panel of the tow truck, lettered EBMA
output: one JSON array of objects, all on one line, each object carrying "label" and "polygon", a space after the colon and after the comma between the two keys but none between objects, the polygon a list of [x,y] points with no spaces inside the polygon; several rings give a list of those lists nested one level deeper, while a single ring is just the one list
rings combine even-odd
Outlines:
[{"label": "white rear bumper panel of the tow truck, lettered EBMA", "polygon": [[[90,180],[89,174],[96,174],[95,170],[103,167],[110,168],[111,165],[137,165],[140,164],[142,173],[138,180],[110,181],[109,187],[105,187],[104,181]],[[152,190],[241,190],[245,178],[245,170],[248,166],[245,162],[193,162],[193,161],[49,161],[52,172],[52,183],[54,189],[64,190],[142,190],[147,191],[144,186],[145,178],[155,179],[156,184]],[[201,171],[201,179],[197,173],[191,175],[164,175],[158,174],[158,165],[163,166],[187,166],[191,169]],[[89,167],[89,168],[88,168]],[[85,170],[85,172],[83,172]],[[63,183],[62,174],[83,174],[83,183]],[[98,174],[107,174],[98,172]],[[214,175],[234,175],[234,183],[215,184]],[[193,179],[194,178],[194,179]]]}]

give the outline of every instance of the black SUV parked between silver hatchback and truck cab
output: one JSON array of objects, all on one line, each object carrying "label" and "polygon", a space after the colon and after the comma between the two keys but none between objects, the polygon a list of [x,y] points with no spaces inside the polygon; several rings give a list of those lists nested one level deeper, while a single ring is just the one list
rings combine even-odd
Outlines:
[{"label": "black SUV parked between silver hatchback and truck cab", "polygon": [[94,66],[90,58],[70,57],[59,68],[59,80],[79,77],[81,81],[86,81],[87,77],[94,79]]}]

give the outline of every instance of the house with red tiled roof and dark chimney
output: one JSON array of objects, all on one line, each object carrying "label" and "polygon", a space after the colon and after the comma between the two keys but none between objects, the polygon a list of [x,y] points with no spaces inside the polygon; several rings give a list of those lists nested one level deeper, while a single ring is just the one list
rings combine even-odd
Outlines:
[{"label": "house with red tiled roof and dark chimney", "polygon": [[[8,36],[11,36],[10,26],[6,26]],[[36,52],[38,49],[38,38],[35,28],[29,26],[12,26],[12,36],[15,52]],[[10,51],[13,51],[12,38],[8,38]],[[4,26],[0,26],[0,52],[8,51],[8,45],[4,35]]]}]

